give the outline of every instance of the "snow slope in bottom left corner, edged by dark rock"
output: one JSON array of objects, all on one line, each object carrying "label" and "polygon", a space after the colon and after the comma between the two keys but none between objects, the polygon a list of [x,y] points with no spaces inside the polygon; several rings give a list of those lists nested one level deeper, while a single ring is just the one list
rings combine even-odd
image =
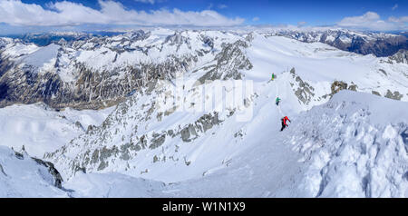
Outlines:
[{"label": "snow slope in bottom left corner, edged by dark rock", "polygon": [[[4,143],[4,142],[2,142]],[[0,197],[68,197],[54,186],[54,177],[28,154],[0,146]]]}]

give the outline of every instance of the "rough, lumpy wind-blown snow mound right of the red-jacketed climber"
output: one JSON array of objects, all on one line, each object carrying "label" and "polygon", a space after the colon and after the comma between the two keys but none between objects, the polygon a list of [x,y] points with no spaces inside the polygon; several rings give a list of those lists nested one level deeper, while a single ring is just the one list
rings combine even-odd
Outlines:
[{"label": "rough, lumpy wind-blown snow mound right of the red-jacketed climber", "polygon": [[344,91],[296,116],[284,143],[310,162],[299,188],[318,197],[407,197],[407,110]]}]

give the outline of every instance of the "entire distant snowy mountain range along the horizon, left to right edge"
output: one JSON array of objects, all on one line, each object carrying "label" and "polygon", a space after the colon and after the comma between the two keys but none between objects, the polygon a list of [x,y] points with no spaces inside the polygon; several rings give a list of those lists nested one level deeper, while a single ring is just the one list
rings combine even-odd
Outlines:
[{"label": "entire distant snowy mountain range along the horizon, left to right edge", "polygon": [[[232,61],[226,52],[233,47],[248,49],[253,34],[286,36],[357,54],[389,56],[383,59],[388,64],[407,61],[404,36],[345,29],[242,32],[155,28],[111,36],[78,34],[77,40],[61,39],[46,46],[1,38],[0,105],[44,102],[54,108],[112,106],[158,79],[174,79],[176,72],[188,73],[214,61]],[[250,67],[251,63],[246,64]]]}]

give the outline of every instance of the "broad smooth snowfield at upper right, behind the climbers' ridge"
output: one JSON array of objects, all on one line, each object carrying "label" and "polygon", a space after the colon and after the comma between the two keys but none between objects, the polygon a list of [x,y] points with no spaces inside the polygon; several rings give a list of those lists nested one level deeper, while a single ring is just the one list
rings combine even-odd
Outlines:
[{"label": "broad smooth snowfield at upper right, behind the climbers' ridge", "polygon": [[261,35],[249,47],[248,57],[254,69],[245,74],[259,74],[260,77],[254,78],[257,80],[294,68],[292,87],[306,104],[326,101],[325,95],[339,88],[408,101],[408,65],[385,63],[387,58],[353,54],[321,43],[305,44]]}]

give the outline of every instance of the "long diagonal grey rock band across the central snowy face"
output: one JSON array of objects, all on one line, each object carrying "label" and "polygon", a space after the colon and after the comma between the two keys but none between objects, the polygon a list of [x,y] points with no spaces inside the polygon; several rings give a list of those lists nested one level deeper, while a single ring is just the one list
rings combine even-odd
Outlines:
[{"label": "long diagonal grey rock band across the central snowy face", "polygon": [[[122,139],[123,142],[116,146],[107,147],[101,145],[103,140],[94,139],[93,136],[83,135],[76,140],[83,142],[83,148],[88,150],[85,152],[80,152],[73,161],[69,161],[69,166],[71,172],[86,172],[86,171],[102,171],[107,168],[110,162],[120,159],[122,161],[130,161],[138,155],[138,152],[143,150],[154,150],[159,148],[167,140],[170,139],[180,139],[182,142],[192,142],[194,139],[199,137],[199,134],[207,132],[209,129],[222,123],[219,120],[218,113],[207,113],[202,115],[196,122],[189,123],[188,125],[181,125],[178,128],[170,129],[167,132],[153,132],[143,134],[140,137],[131,136],[129,142],[126,139]],[[99,135],[95,137],[102,137],[102,139],[107,139],[106,136],[110,133],[108,125],[110,123],[104,123],[101,127],[96,129]],[[75,142],[75,140],[73,141]],[[71,142],[68,145],[63,146],[62,149],[56,152],[46,153],[44,158],[52,159],[58,161],[59,155],[69,152],[71,147],[75,145]],[[156,156],[156,155],[155,155]],[[157,156],[156,156],[157,157]],[[170,157],[169,157],[170,158]],[[172,158],[174,160],[174,158]],[[153,160],[157,162],[159,159]]]}]

